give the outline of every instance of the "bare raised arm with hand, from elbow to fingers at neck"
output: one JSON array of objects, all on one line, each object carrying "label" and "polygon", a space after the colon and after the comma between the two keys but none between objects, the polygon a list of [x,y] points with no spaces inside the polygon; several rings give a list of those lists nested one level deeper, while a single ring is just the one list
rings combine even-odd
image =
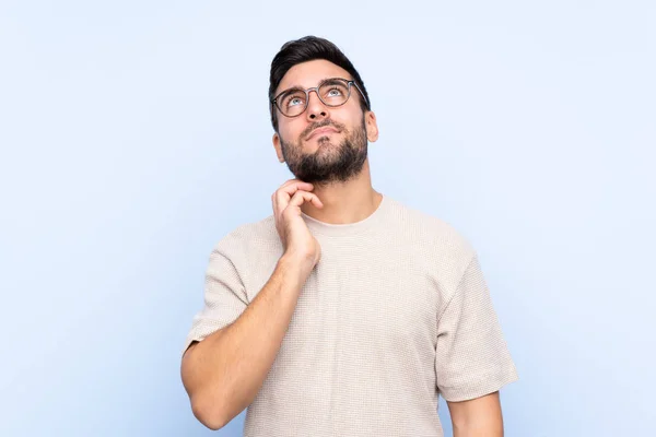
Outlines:
[{"label": "bare raised arm with hand, from elbow to fingers at neck", "polygon": [[192,343],[183,356],[181,378],[194,415],[220,429],[260,390],[280,350],[303,284],[319,261],[320,246],[300,206],[323,204],[314,187],[288,180],[272,196],[276,228],[284,246],[269,281],[231,324]]}]

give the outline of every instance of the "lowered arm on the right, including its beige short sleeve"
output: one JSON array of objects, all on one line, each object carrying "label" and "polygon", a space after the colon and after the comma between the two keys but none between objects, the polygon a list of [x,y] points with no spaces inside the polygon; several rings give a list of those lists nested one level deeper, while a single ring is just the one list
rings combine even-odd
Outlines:
[{"label": "lowered arm on the right, including its beige short sleeve", "polygon": [[437,387],[454,436],[502,437],[499,390],[518,376],[476,253],[437,327]]}]

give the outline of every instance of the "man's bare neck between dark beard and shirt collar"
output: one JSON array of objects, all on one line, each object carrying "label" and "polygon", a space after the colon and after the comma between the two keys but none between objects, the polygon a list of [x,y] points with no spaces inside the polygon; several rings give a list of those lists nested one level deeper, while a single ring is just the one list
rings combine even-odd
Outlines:
[{"label": "man's bare neck between dark beard and shirt collar", "polygon": [[313,192],[324,203],[324,208],[303,203],[301,210],[311,217],[329,224],[363,221],[376,211],[383,200],[383,196],[372,187],[368,160],[353,179],[326,186],[315,185]]}]

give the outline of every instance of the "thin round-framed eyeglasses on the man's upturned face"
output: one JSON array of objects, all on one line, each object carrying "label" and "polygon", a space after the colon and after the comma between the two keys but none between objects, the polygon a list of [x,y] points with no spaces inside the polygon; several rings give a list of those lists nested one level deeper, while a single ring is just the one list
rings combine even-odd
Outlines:
[{"label": "thin round-framed eyeglasses on the man's upturned face", "polygon": [[276,105],[280,114],[285,117],[297,117],[305,113],[307,104],[309,102],[309,92],[314,91],[317,93],[319,101],[326,106],[336,107],[345,104],[351,97],[351,85],[355,88],[366,102],[366,97],[355,81],[349,81],[341,78],[332,78],[324,80],[319,86],[313,88],[290,88],[278,94],[276,98],[271,101],[272,105]]}]

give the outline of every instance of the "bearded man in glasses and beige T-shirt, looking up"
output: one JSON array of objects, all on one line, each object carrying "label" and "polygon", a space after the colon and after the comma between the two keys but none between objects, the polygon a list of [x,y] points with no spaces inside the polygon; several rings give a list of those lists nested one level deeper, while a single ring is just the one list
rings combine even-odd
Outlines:
[{"label": "bearded man in glasses and beige T-shirt, looking up", "polygon": [[244,435],[502,436],[517,379],[473,248],[375,191],[378,127],[360,74],[330,42],[289,42],[271,64],[279,161],[295,176],[273,214],[214,248],[181,377],[218,429]]}]

